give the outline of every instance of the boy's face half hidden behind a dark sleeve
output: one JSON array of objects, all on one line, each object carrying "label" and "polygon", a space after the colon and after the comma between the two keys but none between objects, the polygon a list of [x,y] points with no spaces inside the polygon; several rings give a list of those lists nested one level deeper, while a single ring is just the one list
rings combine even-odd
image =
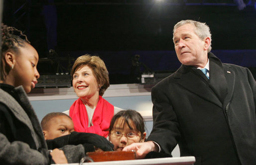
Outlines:
[{"label": "boy's face half hidden behind a dark sleeve", "polygon": [[53,117],[48,123],[48,129],[43,130],[44,139],[54,139],[60,136],[68,135],[74,131],[72,119],[68,116],[61,115]]}]

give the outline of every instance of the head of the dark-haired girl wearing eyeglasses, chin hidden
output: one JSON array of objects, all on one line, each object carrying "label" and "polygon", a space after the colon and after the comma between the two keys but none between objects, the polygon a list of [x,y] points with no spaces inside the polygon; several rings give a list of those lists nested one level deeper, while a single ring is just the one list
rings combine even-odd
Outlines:
[{"label": "head of the dark-haired girl wearing eyeglasses, chin hidden", "polygon": [[115,151],[124,147],[144,142],[146,137],[143,117],[135,110],[122,110],[115,114],[110,122],[109,140]]}]

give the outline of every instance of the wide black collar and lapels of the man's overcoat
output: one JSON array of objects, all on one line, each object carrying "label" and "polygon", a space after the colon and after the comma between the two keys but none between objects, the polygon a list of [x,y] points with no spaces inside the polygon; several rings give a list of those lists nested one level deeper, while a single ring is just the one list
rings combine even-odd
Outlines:
[{"label": "wide black collar and lapels of the man's overcoat", "polygon": [[234,73],[228,71],[229,66],[223,65],[212,53],[208,53],[208,58],[210,80],[197,68],[183,64],[174,73],[174,78],[182,87],[222,108],[228,104],[233,94]]}]

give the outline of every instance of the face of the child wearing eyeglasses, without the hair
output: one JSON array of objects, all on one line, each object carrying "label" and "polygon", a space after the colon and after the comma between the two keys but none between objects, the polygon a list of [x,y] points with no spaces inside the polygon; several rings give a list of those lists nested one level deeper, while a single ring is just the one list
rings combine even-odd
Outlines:
[{"label": "face of the child wearing eyeglasses, without the hair", "polygon": [[[130,122],[129,125],[133,129],[130,129],[127,123],[124,124],[123,117],[116,120],[109,136],[111,143],[114,144],[115,151],[122,151],[124,147],[132,143],[144,142],[146,133],[144,132],[141,135],[140,132],[137,132],[133,122]],[[140,138],[141,136],[143,136],[142,139]]]}]

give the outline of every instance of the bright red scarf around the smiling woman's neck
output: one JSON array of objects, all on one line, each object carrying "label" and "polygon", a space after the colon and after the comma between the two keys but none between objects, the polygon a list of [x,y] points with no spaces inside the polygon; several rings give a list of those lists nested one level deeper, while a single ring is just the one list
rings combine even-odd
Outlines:
[{"label": "bright red scarf around the smiling woman's neck", "polygon": [[88,114],[82,100],[77,99],[69,109],[69,115],[77,132],[96,133],[108,137],[110,121],[114,115],[114,106],[99,96],[99,102],[93,113],[93,126],[88,127]]}]

